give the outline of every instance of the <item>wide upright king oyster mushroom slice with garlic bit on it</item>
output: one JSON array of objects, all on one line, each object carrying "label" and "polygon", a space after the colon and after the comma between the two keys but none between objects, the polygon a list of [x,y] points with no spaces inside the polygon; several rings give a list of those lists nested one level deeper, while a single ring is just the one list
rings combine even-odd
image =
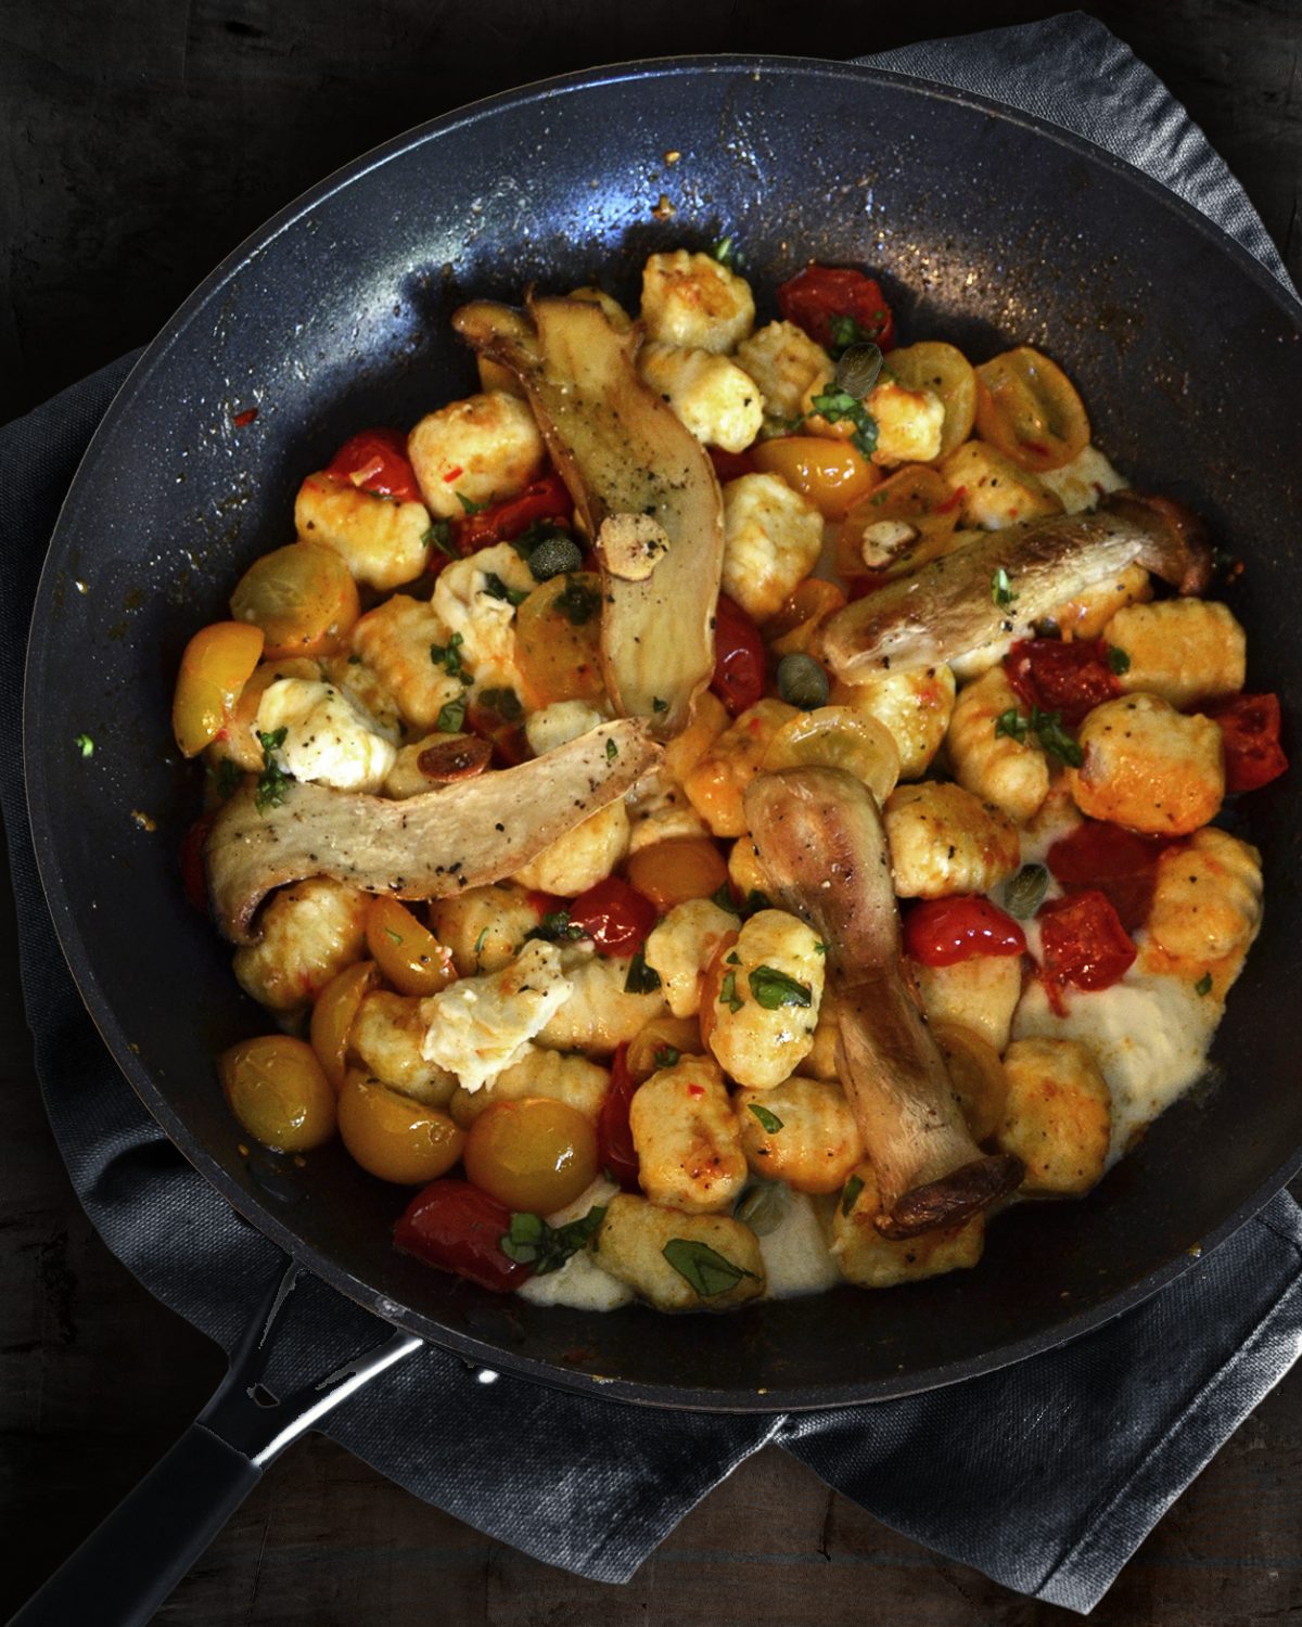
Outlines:
[{"label": "wide upright king oyster mushroom slice with garlic bit on it", "polygon": [[477,301],[452,325],[519,379],[596,539],[612,701],[672,739],[714,670],[723,498],[705,447],[638,377],[640,329],[617,332],[597,304]]}]

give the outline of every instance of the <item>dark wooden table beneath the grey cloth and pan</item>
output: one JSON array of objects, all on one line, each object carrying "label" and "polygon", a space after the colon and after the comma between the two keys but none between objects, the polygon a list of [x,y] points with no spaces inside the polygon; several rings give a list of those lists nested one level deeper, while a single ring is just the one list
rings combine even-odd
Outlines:
[{"label": "dark wooden table beneath the grey cloth and pan", "polygon": [[[329,169],[526,78],[671,50],[856,55],[1056,7],[716,0],[0,0],[0,420],[148,340],[247,231]],[[1302,5],[1094,8],[1190,106],[1302,281]],[[8,1616],[195,1414],[213,1346],[85,1220],[39,1106],[0,896],[0,1529]],[[1302,1619],[1302,1373],[1170,1510],[1100,1627]],[[159,1620],[343,1627],[863,1619],[1048,1627],[776,1451],[747,1463],[622,1590],[487,1541],[339,1448],[299,1445]],[[94,1622],[93,1607],[83,1620]]]}]

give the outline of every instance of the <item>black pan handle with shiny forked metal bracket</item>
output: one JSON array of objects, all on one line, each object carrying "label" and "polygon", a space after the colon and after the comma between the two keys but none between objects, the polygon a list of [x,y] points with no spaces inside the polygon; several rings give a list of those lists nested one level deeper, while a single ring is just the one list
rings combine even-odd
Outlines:
[{"label": "black pan handle with shiny forked metal bracket", "polygon": [[50,1577],[10,1627],[145,1627],[262,1479],[262,1471],[363,1385],[422,1349],[394,1333],[283,1399],[262,1385],[296,1266],[278,1276],[216,1394],[181,1440]]}]

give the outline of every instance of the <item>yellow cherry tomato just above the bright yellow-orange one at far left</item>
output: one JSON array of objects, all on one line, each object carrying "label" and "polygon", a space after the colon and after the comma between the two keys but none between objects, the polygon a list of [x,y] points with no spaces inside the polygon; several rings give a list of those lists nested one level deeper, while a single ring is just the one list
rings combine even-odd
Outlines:
[{"label": "yellow cherry tomato just above the bright yellow-orange one at far left", "polygon": [[329,656],[361,604],[348,566],[319,542],[291,542],[254,560],[231,594],[231,615],[267,635],[267,656]]}]

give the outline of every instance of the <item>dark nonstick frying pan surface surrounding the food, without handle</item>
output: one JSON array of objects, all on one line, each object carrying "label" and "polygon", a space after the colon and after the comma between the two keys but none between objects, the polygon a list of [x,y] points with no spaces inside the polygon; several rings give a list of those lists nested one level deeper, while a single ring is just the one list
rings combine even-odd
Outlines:
[{"label": "dark nonstick frying pan surface surrounding the food, without handle", "polygon": [[[879,1401],[1074,1337],[1188,1269],[1297,1170],[1297,1046],[1281,1020],[1302,926],[1287,781],[1256,792],[1242,825],[1230,814],[1263,848],[1269,905],[1212,1084],[1090,1197],[1024,1206],[991,1228],[976,1271],[885,1295],[586,1316],[395,1254],[404,1194],[337,1147],[301,1170],[241,1152],[212,1059],[265,1015],[181,896],[197,784],[168,731],[186,639],[228,613],[259,553],[291,540],[303,475],[355,430],[412,423],[475,387],[448,325],[461,301],[599,278],[635,304],[648,252],[723,234],[745,255],[760,321],[776,314],[775,283],[817,257],[877,268],[905,340],[1058,356],[1131,480],[1190,503],[1247,558],[1229,599],[1252,687],[1295,716],[1302,309],[1201,215],[1053,127],[850,65],[677,59],[435,120],[322,182],[199,288],[63,506],[29,648],[26,771],[54,923],[106,1043],[184,1155],[301,1266],[498,1370],[771,1412]],[[90,770],[68,748],[83,732]]]}]

